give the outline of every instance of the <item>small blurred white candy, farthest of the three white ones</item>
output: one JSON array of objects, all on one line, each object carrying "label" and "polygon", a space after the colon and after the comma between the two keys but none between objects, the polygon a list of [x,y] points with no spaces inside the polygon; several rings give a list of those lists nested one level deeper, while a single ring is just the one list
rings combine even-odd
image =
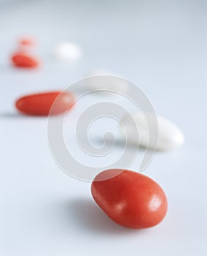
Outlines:
[{"label": "small blurred white candy, farthest of the three white ones", "polygon": [[62,42],[55,48],[55,56],[69,62],[79,61],[82,58],[82,49],[71,42]]}]

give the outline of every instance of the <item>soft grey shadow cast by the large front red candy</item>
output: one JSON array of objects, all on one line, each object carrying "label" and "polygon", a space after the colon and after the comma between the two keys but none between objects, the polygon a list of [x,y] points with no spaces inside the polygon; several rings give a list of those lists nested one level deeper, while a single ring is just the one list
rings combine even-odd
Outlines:
[{"label": "soft grey shadow cast by the large front red candy", "polygon": [[133,230],[117,225],[106,216],[101,208],[96,206],[92,199],[71,200],[64,206],[64,211],[66,211],[66,217],[72,218],[69,222],[74,222],[74,225],[82,231],[116,236],[144,232],[144,230]]}]

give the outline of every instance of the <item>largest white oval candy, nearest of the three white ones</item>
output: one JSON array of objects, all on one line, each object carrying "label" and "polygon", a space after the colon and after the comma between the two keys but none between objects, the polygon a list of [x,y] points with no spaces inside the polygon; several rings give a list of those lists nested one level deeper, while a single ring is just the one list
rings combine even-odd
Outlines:
[{"label": "largest white oval candy, nearest of the three white ones", "polygon": [[[131,118],[134,119],[136,127],[131,123]],[[157,143],[149,143],[149,127],[147,124],[147,118],[151,118],[152,126],[155,124],[155,128],[158,124],[158,142]],[[130,116],[125,116],[122,119],[121,132],[123,136],[127,135],[128,143],[138,146],[149,147],[155,149],[157,146],[157,150],[160,151],[168,151],[173,148],[178,148],[184,143],[184,135],[175,124],[167,119],[157,116],[157,124],[155,122],[155,116],[152,116],[150,113],[141,113],[140,111],[136,113],[130,114]],[[135,140],[135,136],[138,131],[138,140]],[[157,145],[155,145],[157,144]]]}]

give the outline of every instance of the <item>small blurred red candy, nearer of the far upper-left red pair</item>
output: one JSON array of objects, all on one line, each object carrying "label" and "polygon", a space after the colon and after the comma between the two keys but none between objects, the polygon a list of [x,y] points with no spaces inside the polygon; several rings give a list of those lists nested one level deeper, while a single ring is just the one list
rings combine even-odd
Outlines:
[{"label": "small blurred red candy, nearer of the far upper-left red pair", "polygon": [[39,60],[26,53],[15,53],[12,55],[12,63],[16,67],[35,68],[39,66]]}]

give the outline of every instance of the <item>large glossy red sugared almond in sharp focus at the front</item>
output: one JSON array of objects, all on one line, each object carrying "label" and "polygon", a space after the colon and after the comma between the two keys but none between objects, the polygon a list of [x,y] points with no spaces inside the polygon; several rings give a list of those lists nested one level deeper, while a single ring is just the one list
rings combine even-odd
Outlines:
[{"label": "large glossy red sugared almond in sharp focus at the front", "polygon": [[[145,228],[160,223],[168,208],[160,185],[141,173],[120,172],[118,169],[105,170],[95,177],[91,192],[98,206],[114,222],[125,227]],[[112,176],[114,178],[109,178]]]}]

